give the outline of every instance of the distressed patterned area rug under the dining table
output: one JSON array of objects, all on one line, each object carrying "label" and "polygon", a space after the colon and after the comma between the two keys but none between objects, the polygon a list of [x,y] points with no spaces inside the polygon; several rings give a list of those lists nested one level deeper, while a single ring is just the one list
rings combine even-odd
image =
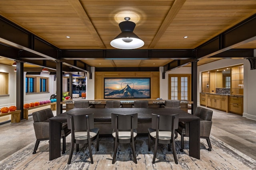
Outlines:
[{"label": "distressed patterned area rug under the dining table", "polygon": [[[68,139],[69,138],[69,139]],[[96,142],[92,146],[94,164],[90,163],[88,145],[80,145],[79,152],[74,149],[71,164],[67,164],[70,153],[70,135],[67,137],[66,153],[60,158],[49,160],[49,143],[41,141],[36,154],[32,154],[34,144],[10,155],[0,162],[1,170],[113,170],[113,169],[145,169],[145,170],[256,170],[256,161],[226,143],[211,137],[212,151],[207,150],[205,139],[200,142],[200,160],[188,155],[188,138],[184,138],[184,152],[180,152],[180,138],[176,139],[178,164],[175,164],[172,151],[167,145],[159,145],[156,163],[152,164],[154,143],[151,140],[151,151],[148,151],[148,137],[137,137],[136,159],[133,162],[132,149],[129,144],[119,144],[115,164],[112,164],[113,139],[100,137],[100,149],[96,152]],[[76,145],[75,145],[76,146]]]}]

